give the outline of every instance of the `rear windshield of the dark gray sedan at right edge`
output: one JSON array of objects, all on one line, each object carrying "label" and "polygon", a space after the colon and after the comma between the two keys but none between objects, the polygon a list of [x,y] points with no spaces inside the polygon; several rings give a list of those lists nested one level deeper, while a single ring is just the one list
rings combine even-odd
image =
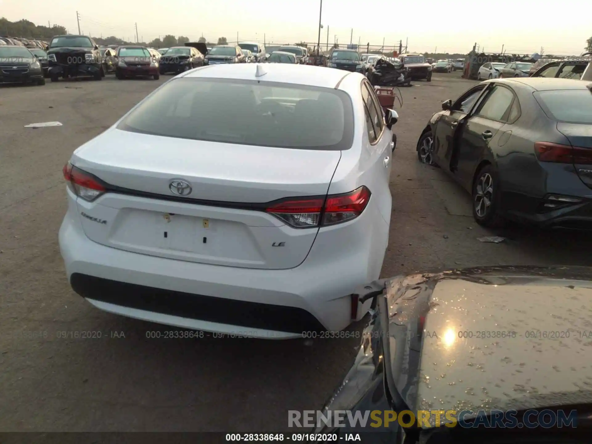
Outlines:
[{"label": "rear windshield of the dark gray sedan at right edge", "polygon": [[561,122],[592,124],[592,92],[588,89],[535,92],[548,117]]}]

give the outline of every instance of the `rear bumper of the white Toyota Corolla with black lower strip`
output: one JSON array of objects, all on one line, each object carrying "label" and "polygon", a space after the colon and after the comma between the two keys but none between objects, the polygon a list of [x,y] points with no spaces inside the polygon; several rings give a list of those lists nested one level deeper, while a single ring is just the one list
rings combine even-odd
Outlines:
[{"label": "rear bumper of the white Toyota Corolla with black lower strip", "polygon": [[[382,221],[386,237],[364,230],[368,239],[359,240],[364,248],[327,256],[323,252],[337,236],[327,227],[329,232],[317,236],[300,266],[237,268],[95,243],[82,229],[76,203],[70,202],[70,207],[60,227],[60,252],[73,289],[95,307],[178,327],[262,338],[302,337],[310,330],[347,327],[352,322],[350,294],[378,279],[388,240],[388,224]],[[368,217],[381,219],[378,213]],[[370,304],[358,304],[356,319]]]}]

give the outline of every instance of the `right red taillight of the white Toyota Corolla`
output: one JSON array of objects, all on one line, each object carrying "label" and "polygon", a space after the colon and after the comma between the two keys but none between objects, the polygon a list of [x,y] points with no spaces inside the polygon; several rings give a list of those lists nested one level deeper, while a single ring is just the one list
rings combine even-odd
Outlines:
[{"label": "right red taillight of the white Toyota Corolla", "polygon": [[288,198],[271,205],[265,211],[295,228],[334,225],[362,214],[370,195],[370,190],[361,186],[355,191],[334,194],[327,198]]}]

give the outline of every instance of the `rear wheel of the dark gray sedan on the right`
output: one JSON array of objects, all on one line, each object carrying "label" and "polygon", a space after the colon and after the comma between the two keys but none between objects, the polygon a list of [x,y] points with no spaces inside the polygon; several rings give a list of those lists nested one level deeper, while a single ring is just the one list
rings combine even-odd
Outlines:
[{"label": "rear wheel of the dark gray sedan on the right", "polygon": [[475,222],[491,228],[503,223],[499,210],[501,196],[499,180],[493,166],[484,165],[475,175],[471,195]]}]

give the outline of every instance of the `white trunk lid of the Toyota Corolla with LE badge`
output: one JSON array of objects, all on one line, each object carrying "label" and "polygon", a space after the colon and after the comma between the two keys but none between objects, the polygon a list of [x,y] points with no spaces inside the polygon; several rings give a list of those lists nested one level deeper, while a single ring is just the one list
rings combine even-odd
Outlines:
[{"label": "white trunk lid of the Toyota Corolla with LE badge", "polygon": [[[77,200],[86,236],[95,242],[170,259],[285,269],[303,262],[318,229],[289,227],[261,204],[326,195],[339,159],[339,151],[113,128],[76,150],[72,163],[117,188],[94,202]],[[173,194],[175,179],[189,184],[191,193]]]}]

